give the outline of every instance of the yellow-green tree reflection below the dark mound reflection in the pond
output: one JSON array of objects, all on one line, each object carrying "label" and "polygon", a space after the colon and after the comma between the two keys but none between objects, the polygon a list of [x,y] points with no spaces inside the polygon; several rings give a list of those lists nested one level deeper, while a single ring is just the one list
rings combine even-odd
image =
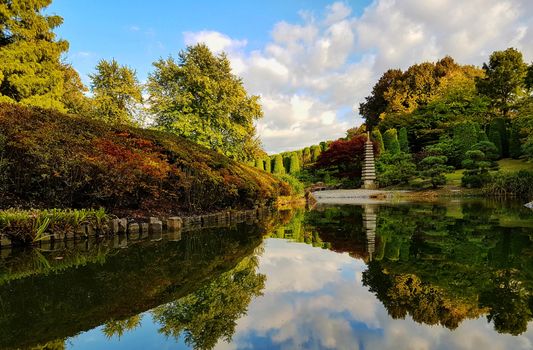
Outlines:
[{"label": "yellow-green tree reflection below the dark mound reflection in the pond", "polygon": [[212,349],[220,338],[231,341],[237,320],[264,288],[265,276],[256,270],[257,258],[245,258],[196,292],[157,307],[153,315],[160,332],[176,339],[183,335],[194,349]]}]

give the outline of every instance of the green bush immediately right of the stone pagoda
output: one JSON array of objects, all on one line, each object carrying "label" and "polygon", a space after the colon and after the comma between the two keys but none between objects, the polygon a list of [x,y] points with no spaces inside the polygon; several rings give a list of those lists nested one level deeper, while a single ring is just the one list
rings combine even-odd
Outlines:
[{"label": "green bush immediately right of the stone pagoda", "polygon": [[376,171],[378,184],[386,187],[407,184],[415,176],[416,166],[410,154],[386,151],[376,161]]}]

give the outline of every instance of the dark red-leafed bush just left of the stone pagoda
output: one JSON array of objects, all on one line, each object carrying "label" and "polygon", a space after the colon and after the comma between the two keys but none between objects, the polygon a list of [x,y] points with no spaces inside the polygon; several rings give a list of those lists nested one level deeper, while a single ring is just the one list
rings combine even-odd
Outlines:
[{"label": "dark red-leafed bush just left of the stone pagoda", "polygon": [[[320,154],[315,168],[331,170],[338,177],[361,177],[366,139],[365,135],[357,135],[349,140],[334,141]],[[374,143],[374,153],[377,149]]]}]

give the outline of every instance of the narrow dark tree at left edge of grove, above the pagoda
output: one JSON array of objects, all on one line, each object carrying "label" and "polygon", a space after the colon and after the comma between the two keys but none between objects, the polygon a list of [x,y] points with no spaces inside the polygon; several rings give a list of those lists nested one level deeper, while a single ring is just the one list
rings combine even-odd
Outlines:
[{"label": "narrow dark tree at left edge of grove, above the pagoda", "polygon": [[365,102],[359,105],[359,113],[365,119],[369,129],[379,124],[380,116],[387,110],[388,101],[385,94],[391,86],[398,80],[401,80],[403,72],[400,69],[389,69],[372,88],[370,96],[365,98]]}]

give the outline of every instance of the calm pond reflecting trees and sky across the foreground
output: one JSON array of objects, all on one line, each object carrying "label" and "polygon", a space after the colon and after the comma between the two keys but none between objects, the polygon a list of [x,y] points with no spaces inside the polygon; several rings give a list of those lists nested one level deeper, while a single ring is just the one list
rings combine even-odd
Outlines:
[{"label": "calm pond reflecting trees and sky across the foreground", "polygon": [[515,203],[0,253],[0,348],[533,349],[533,211]]}]

